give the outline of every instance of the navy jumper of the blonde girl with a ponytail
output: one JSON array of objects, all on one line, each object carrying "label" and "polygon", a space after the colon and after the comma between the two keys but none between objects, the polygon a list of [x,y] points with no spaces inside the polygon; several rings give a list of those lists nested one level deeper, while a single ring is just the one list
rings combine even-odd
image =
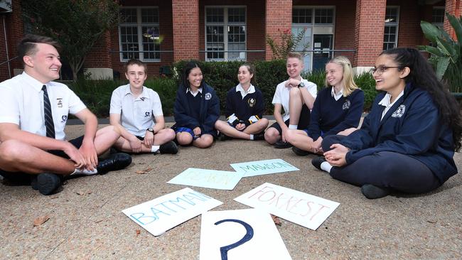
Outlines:
[{"label": "navy jumper of the blonde girl with a ponytail", "polygon": [[318,93],[311,111],[308,136],[316,141],[320,136],[338,134],[338,132],[360,123],[364,92],[356,89],[348,97],[340,91],[335,94],[333,87],[326,87]]}]

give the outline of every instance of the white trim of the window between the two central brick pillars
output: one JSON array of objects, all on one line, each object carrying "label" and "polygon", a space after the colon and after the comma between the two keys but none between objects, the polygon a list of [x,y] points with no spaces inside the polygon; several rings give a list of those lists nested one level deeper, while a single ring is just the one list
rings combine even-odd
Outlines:
[{"label": "white trim of the window between the two central brick pillars", "polygon": [[[208,8],[217,8],[223,9],[223,21],[221,23],[208,23],[207,22],[207,9]],[[228,23],[228,9],[230,8],[243,8],[244,9],[244,16],[245,16],[245,59],[247,60],[247,6],[204,6],[204,49],[207,50],[207,26],[242,26],[242,23]],[[207,53],[205,53],[205,61],[227,61],[228,60],[228,41],[227,41],[227,30],[226,28],[223,29],[223,44],[225,53],[223,53],[223,58],[207,58]]]}]

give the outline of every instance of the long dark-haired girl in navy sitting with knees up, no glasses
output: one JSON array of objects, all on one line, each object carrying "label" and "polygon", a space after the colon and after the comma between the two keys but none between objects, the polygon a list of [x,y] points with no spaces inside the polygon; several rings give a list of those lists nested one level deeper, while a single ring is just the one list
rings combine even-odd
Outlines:
[{"label": "long dark-haired girl in navy sitting with knees up, no glasses", "polygon": [[220,100],[215,90],[203,80],[202,70],[193,61],[186,64],[183,80],[176,92],[176,141],[182,146],[207,148],[217,136],[215,122],[220,117]]}]

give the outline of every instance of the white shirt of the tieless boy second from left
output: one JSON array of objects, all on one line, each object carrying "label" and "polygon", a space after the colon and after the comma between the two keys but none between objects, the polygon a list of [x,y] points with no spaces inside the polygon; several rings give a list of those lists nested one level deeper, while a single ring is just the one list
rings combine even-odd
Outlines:
[{"label": "white shirt of the tieless boy second from left", "polygon": [[163,116],[161,99],[154,90],[143,87],[134,97],[130,85],[117,87],[112,92],[110,114],[121,114],[122,126],[135,136],[144,137],[146,129],[154,127],[154,117]]}]

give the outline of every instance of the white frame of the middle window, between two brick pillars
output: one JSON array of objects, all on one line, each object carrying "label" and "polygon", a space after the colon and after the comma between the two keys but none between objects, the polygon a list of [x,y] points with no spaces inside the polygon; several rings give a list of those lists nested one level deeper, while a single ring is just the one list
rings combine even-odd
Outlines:
[{"label": "white frame of the middle window, between two brick pillars", "polygon": [[[207,9],[222,9],[223,10],[223,21],[222,22],[208,22],[207,21]],[[228,14],[229,9],[244,9],[244,22],[230,22],[228,21]],[[223,28],[223,58],[208,58],[208,39],[207,39],[207,27],[208,26],[222,26]],[[229,58],[230,53],[227,51],[229,50],[228,41],[228,30],[227,28],[230,26],[244,26],[245,28],[245,41],[244,44],[244,52],[245,58]],[[242,43],[242,42],[238,42]],[[212,44],[212,43],[210,43]],[[204,6],[204,50],[205,50],[205,61],[235,61],[235,60],[247,60],[247,6],[236,5],[236,6]],[[211,51],[213,53],[213,51]]]}]

